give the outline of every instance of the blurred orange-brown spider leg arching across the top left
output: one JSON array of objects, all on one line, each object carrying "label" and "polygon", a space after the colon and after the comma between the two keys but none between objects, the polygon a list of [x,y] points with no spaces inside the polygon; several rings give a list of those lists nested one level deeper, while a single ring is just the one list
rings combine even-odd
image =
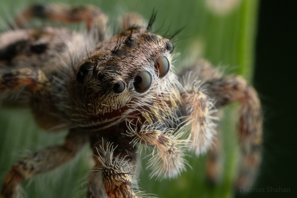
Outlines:
[{"label": "blurred orange-brown spider leg arching across the top left", "polygon": [[87,30],[96,33],[98,41],[104,40],[107,34],[108,17],[102,10],[91,5],[33,4],[19,14],[15,23],[22,28],[34,17],[63,23],[85,21]]}]

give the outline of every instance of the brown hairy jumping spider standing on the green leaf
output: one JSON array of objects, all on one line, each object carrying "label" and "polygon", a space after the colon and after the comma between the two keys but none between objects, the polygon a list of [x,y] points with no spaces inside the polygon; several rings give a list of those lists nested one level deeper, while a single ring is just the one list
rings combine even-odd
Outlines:
[{"label": "brown hairy jumping spider standing on the green leaf", "polygon": [[[87,31],[22,28],[34,17],[85,20]],[[234,101],[241,103],[243,155],[237,186],[252,183],[262,141],[256,91],[240,76],[222,76],[207,61],[176,75],[173,43],[151,33],[155,17],[144,26],[141,16],[129,13],[120,31],[108,37],[108,18],[96,7],[33,5],[16,18],[19,28],[0,34],[2,100],[27,97],[41,128],[69,129],[63,145],[34,152],[12,166],[1,198],[18,197],[22,181],[70,161],[87,142],[98,170],[89,175],[87,197],[141,197],[134,186],[139,147],[153,152],[151,176],[174,178],[186,169],[187,151],[199,155],[216,148],[217,110]]]}]

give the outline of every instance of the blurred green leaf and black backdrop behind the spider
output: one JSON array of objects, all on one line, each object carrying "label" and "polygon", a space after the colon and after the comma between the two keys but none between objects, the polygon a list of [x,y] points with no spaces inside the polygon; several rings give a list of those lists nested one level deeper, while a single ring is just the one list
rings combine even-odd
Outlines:
[{"label": "blurred green leaf and black backdrop behind the spider", "polygon": [[[0,2],[0,23],[7,23],[13,18],[17,11],[26,7],[34,1],[1,1]],[[36,2],[36,1],[35,1]],[[237,105],[230,105],[225,108],[225,116],[222,121],[223,138],[224,138],[224,171],[222,181],[217,186],[210,186],[205,179],[205,156],[189,157],[187,172],[181,174],[178,179],[162,180],[161,182],[154,179],[149,180],[149,171],[145,170],[146,161],[142,162],[143,170],[140,173],[139,186],[140,189],[149,194],[156,194],[160,198],[174,197],[288,197],[296,193],[296,179],[290,175],[294,175],[290,170],[295,166],[296,154],[289,149],[293,145],[292,140],[296,134],[290,132],[290,125],[282,126],[279,123],[272,127],[273,123],[281,122],[281,118],[285,122],[288,121],[285,113],[285,105],[280,108],[284,113],[279,112],[278,106],[281,105],[275,95],[270,95],[272,84],[276,82],[272,77],[278,79],[277,85],[273,88],[285,85],[285,81],[281,81],[280,73],[284,73],[285,68],[276,70],[275,74],[270,74],[274,68],[278,68],[271,59],[276,61],[278,56],[273,53],[278,52],[283,46],[278,46],[278,50],[273,50],[273,45],[279,37],[275,34],[269,34],[262,31],[263,27],[274,25],[275,21],[271,21],[271,17],[280,19],[277,15],[269,15],[265,18],[267,6],[266,1],[248,1],[248,0],[171,0],[171,1],[52,1],[67,4],[93,4],[105,11],[110,17],[111,29],[117,26],[119,18],[125,12],[135,11],[143,15],[145,19],[149,19],[152,10],[157,10],[157,20],[154,23],[154,30],[158,30],[157,34],[164,34],[170,30],[172,33],[185,26],[184,30],[174,40],[175,52],[180,55],[174,63],[176,68],[179,65],[187,65],[197,58],[205,58],[215,66],[225,68],[225,72],[243,75],[247,80],[251,81],[254,74],[254,66],[256,63],[256,75],[254,84],[259,91],[260,98],[263,102],[265,123],[264,123],[264,156],[263,164],[259,179],[255,183],[254,188],[290,188],[290,193],[250,193],[236,194],[233,189],[234,178],[236,177],[238,161],[238,145],[235,135],[236,131],[236,115]],[[271,2],[271,1],[270,1]],[[260,24],[258,26],[258,10],[260,5]],[[279,4],[278,4],[279,5]],[[278,8],[278,9],[277,9]],[[283,10],[285,12],[285,10]],[[264,13],[264,15],[262,14]],[[264,19],[263,19],[263,16]],[[262,16],[262,17],[261,17]],[[263,21],[264,20],[264,21]],[[39,21],[34,21],[37,24]],[[268,22],[268,23],[267,23]],[[263,23],[263,24],[262,24]],[[278,21],[276,21],[279,24]],[[284,23],[282,23],[284,24]],[[61,24],[58,24],[58,26]],[[69,25],[70,28],[80,29],[83,24]],[[296,26],[296,24],[295,24]],[[258,42],[256,47],[257,27],[260,27],[258,34]],[[277,28],[273,28],[276,31]],[[268,40],[269,36],[272,40]],[[266,43],[265,43],[266,42]],[[261,45],[262,44],[262,45]],[[264,45],[263,45],[264,44]],[[265,46],[266,44],[266,46]],[[271,50],[271,53],[267,52]],[[257,52],[257,53],[255,53]],[[282,56],[287,56],[282,51]],[[262,56],[259,55],[264,53]],[[266,53],[266,54],[265,54]],[[290,52],[292,53],[292,52]],[[255,58],[256,57],[256,58]],[[265,57],[270,57],[266,58]],[[296,57],[296,53],[295,53]],[[256,60],[256,61],[255,61]],[[284,65],[284,60],[279,59],[279,65]],[[287,64],[296,66],[293,62]],[[280,66],[280,68],[282,68]],[[296,83],[293,83],[293,85]],[[285,92],[285,88],[277,92]],[[294,92],[292,89],[287,90]],[[296,89],[295,89],[296,92]],[[283,94],[282,96],[284,96]],[[283,97],[282,102],[287,98]],[[291,110],[291,109],[290,109]],[[280,115],[279,115],[280,113]],[[278,118],[277,121],[274,121]],[[293,117],[288,117],[293,119]],[[277,131],[276,129],[279,129]],[[287,129],[287,130],[285,130]],[[296,128],[295,128],[296,129]],[[282,135],[277,135],[281,133]],[[0,183],[9,170],[10,166],[25,156],[29,151],[37,151],[48,145],[61,144],[66,132],[62,133],[46,133],[36,126],[30,110],[23,109],[0,109]],[[295,136],[294,136],[295,135]],[[291,137],[291,138],[290,138]],[[291,142],[290,142],[291,140]],[[285,149],[284,149],[285,148]],[[292,147],[293,148],[293,147]],[[288,152],[290,150],[290,152]],[[91,153],[86,147],[83,151],[69,164],[58,168],[50,173],[39,175],[29,181],[24,182],[23,186],[28,197],[84,197],[86,187],[86,177],[90,169],[89,158]],[[295,160],[293,160],[295,159]],[[290,161],[291,160],[291,161]],[[289,164],[289,165],[288,165]],[[284,170],[284,171],[280,171]],[[278,171],[278,172],[277,172]],[[281,173],[279,173],[279,171]],[[296,176],[296,174],[295,174]],[[295,182],[295,183],[294,183]]]}]

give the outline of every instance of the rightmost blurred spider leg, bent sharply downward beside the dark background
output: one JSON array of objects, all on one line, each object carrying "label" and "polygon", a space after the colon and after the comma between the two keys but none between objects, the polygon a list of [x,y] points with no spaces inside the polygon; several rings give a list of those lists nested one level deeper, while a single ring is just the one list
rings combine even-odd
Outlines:
[{"label": "rightmost blurred spider leg, bent sharply downward beside the dark background", "polygon": [[230,102],[239,101],[240,115],[238,136],[243,160],[237,186],[251,186],[261,162],[262,109],[255,89],[240,76],[222,77],[205,83],[207,93],[220,108]]}]

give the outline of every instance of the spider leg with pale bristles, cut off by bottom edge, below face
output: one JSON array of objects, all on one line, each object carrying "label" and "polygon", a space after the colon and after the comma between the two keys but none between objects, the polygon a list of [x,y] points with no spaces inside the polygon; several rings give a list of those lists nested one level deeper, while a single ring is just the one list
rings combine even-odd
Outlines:
[{"label": "spider leg with pale bristles, cut off by bottom edge, below face", "polygon": [[[115,138],[100,140],[94,146],[95,171],[89,176],[87,197],[137,198],[135,180],[135,148]],[[97,147],[99,145],[99,147]]]}]

